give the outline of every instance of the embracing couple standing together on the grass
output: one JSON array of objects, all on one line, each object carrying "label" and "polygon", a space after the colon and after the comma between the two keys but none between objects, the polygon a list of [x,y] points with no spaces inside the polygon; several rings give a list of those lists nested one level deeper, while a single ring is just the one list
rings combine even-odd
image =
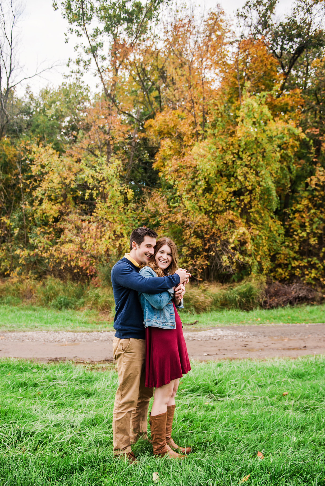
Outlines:
[{"label": "embracing couple standing together on the grass", "polygon": [[131,444],[148,440],[149,400],[153,451],[156,457],[182,459],[191,449],[171,438],[175,395],[183,374],[191,369],[177,309],[183,308],[190,274],[178,268],[177,249],[169,238],[149,228],[132,231],[130,253],[112,268],[116,305],[113,355],[119,387],[113,410],[113,451],[136,462]]}]

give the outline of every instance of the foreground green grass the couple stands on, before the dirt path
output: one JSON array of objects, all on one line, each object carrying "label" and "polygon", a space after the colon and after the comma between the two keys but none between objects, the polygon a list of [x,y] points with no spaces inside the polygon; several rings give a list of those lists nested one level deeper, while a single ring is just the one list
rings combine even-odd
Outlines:
[{"label": "foreground green grass the couple stands on, before the dirt path", "polygon": [[176,397],[173,437],[194,451],[181,462],[143,441],[138,465],[114,460],[116,387],[114,370],[1,360],[0,484],[324,484],[325,357],[193,365]]}]

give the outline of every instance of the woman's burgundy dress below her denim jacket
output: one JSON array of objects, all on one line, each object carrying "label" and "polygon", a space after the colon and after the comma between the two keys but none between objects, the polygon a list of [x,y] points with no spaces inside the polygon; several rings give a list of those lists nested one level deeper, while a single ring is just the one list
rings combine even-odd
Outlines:
[{"label": "woman's burgundy dress below her denim jacket", "polygon": [[176,329],[146,328],[146,382],[147,388],[158,388],[171,380],[182,378],[190,371],[188,350],[181,319],[175,312]]}]

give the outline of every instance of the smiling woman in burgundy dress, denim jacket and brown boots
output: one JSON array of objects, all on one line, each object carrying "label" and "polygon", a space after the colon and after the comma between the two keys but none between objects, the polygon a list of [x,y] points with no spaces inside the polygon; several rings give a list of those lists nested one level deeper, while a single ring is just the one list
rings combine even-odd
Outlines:
[{"label": "smiling woman in burgundy dress, denim jacket and brown boots", "polygon": [[[160,238],[154,247],[154,255],[145,267],[143,277],[164,277],[173,274],[177,268],[177,249],[169,238]],[[160,294],[139,294],[139,301],[146,327],[146,382],[148,388],[155,388],[154,403],[150,413],[150,430],[155,456],[168,454],[183,459],[191,448],[179,447],[171,438],[171,426],[175,410],[175,395],[180,378],[191,369],[188,351],[177,308],[183,308],[185,288],[178,285]]]}]

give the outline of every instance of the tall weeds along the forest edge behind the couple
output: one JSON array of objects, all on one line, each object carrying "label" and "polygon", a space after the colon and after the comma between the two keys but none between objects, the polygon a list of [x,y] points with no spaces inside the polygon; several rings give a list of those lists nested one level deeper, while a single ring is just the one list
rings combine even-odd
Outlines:
[{"label": "tall weeds along the forest edge behind the couple", "polygon": [[[218,309],[257,308],[265,294],[263,281],[246,281],[239,284],[221,285],[188,284],[184,295],[185,311],[201,313]],[[0,282],[0,302],[18,305],[22,302],[47,306],[52,309],[96,309],[114,312],[111,285],[103,280],[95,284],[63,282],[48,277],[43,281],[8,279]]]}]

